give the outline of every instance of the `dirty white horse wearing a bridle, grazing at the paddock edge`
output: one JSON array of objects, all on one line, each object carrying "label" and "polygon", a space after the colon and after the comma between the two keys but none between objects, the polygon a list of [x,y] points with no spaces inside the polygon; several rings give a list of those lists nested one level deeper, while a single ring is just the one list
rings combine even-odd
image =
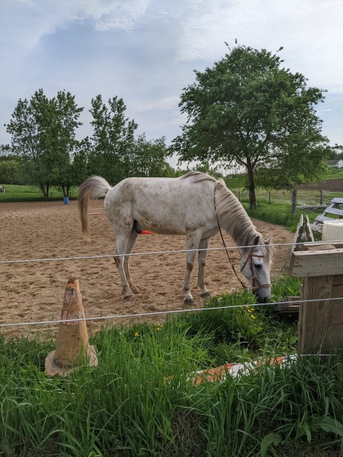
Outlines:
[{"label": "dirty white horse wearing a bridle, grazing at the paddock edge", "polygon": [[[104,178],[89,177],[79,188],[78,206],[82,232],[90,239],[88,206],[90,199],[106,195],[104,210],[117,238],[115,263],[119,271],[124,299],[139,289],[129,270],[130,254],[141,230],[156,234],[186,235],[187,269],[182,291],[185,303],[193,301],[189,278],[198,251],[200,296],[209,297],[204,284],[206,248],[222,227],[235,240],[241,255],[241,272],[252,286],[259,302],[270,299],[270,239],[263,241],[246,210],[226,188],[224,181],[191,171],[178,178],[129,177],[111,187]],[[192,250],[193,249],[193,250]],[[205,250],[200,250],[205,249]]]}]

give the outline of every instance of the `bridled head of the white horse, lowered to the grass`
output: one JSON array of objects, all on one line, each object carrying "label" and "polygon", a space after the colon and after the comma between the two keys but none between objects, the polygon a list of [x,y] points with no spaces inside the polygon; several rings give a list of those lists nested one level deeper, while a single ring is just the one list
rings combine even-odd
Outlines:
[{"label": "bridled head of the white horse, lowered to the grass", "polygon": [[252,286],[259,303],[270,300],[270,265],[272,263],[270,242],[272,238],[260,244],[260,236],[256,236],[253,247],[239,249],[241,253],[241,273]]}]

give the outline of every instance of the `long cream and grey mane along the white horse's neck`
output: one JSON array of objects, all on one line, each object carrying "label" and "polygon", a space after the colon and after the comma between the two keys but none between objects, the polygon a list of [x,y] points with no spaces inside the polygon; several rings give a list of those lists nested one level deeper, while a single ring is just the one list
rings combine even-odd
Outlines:
[{"label": "long cream and grey mane along the white horse's neck", "polygon": [[180,176],[179,179],[189,179],[192,182],[215,182],[213,201],[220,227],[228,232],[237,246],[252,246],[255,238],[259,236],[265,260],[271,259],[272,249],[263,244],[263,236],[257,232],[246,210],[241,206],[237,197],[226,187],[224,180],[216,180],[210,175],[200,173],[200,171],[190,171]]}]

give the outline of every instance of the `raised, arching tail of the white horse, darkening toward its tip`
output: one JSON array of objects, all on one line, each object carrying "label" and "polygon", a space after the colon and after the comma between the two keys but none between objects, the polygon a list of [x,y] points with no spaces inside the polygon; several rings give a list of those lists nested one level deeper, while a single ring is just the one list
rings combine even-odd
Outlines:
[{"label": "raised, arching tail of the white horse, darkening toward its tip", "polygon": [[101,176],[91,176],[79,187],[78,206],[82,225],[82,233],[86,240],[91,240],[89,232],[88,208],[91,199],[97,199],[100,195],[106,195],[111,186]]}]

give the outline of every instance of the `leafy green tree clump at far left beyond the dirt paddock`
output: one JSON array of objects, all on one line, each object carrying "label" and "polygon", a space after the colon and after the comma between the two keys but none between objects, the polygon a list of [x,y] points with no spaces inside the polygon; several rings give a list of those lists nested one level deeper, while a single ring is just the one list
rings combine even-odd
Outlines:
[{"label": "leafy green tree clump at far left beyond the dirt paddock", "polygon": [[39,186],[45,198],[50,186],[68,191],[70,153],[82,110],[70,92],[58,92],[48,99],[39,89],[30,101],[19,99],[6,126],[12,136],[12,152],[24,164],[25,182]]}]

